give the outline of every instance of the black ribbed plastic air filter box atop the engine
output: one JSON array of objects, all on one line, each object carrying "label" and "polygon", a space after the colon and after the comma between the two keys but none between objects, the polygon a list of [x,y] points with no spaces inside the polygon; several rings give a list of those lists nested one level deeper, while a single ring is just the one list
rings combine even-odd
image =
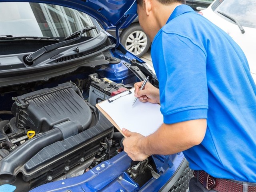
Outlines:
[{"label": "black ribbed plastic air filter box atop the engine", "polygon": [[46,132],[56,124],[71,121],[86,130],[92,121],[92,113],[80,95],[76,85],[63,83],[18,96],[12,105],[17,128]]}]

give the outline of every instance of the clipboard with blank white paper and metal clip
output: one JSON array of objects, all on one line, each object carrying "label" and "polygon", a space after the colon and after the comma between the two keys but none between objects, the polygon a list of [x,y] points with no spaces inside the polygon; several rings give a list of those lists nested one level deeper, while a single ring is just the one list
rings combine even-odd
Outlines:
[{"label": "clipboard with blank white paper and metal clip", "polygon": [[122,134],[122,128],[126,128],[132,132],[148,136],[163,123],[160,105],[137,101],[132,106],[134,99],[134,88],[132,88],[96,104],[96,108]]}]

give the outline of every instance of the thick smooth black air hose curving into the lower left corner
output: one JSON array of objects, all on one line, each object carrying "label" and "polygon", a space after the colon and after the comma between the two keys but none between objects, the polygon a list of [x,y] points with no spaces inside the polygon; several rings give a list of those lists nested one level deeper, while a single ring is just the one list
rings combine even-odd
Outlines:
[{"label": "thick smooth black air hose curving into the lower left corner", "polygon": [[12,184],[16,181],[16,170],[26,164],[36,153],[44,147],[63,139],[59,129],[44,132],[24,144],[18,146],[8,156],[0,161],[0,185]]}]

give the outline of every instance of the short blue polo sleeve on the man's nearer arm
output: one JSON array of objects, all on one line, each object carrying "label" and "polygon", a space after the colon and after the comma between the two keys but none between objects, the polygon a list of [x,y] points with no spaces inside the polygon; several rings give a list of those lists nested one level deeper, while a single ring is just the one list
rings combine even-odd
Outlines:
[{"label": "short blue polo sleeve on the man's nearer arm", "polygon": [[206,52],[189,37],[160,32],[151,49],[164,123],[207,119]]}]

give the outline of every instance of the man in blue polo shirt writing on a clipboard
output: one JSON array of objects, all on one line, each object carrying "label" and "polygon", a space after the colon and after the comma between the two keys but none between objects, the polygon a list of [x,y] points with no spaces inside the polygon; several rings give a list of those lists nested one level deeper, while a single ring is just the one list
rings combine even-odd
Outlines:
[{"label": "man in blue polo shirt writing on a clipboard", "polygon": [[181,1],[139,0],[137,12],[160,89],[138,82],[135,96],[160,103],[164,123],[147,137],[123,129],[124,151],[133,160],[183,151],[200,170],[190,191],[256,191],[256,86],[244,53]]}]

